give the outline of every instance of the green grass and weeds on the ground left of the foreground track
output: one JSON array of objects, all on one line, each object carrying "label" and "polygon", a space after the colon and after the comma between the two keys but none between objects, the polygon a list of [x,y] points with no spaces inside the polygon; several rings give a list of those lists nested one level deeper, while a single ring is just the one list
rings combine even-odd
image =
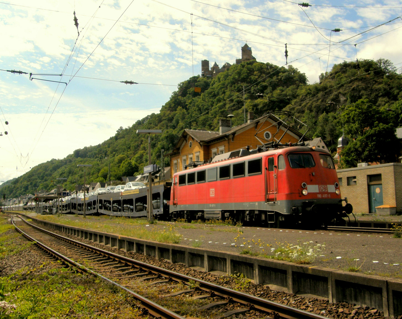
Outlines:
[{"label": "green grass and weeds on the ground left of the foreground track", "polygon": [[[16,246],[13,226],[0,219],[2,262],[29,247]],[[140,311],[133,299],[122,290],[97,278],[71,272],[58,262],[45,262],[33,269],[22,268],[0,277],[0,318],[134,318]]]}]

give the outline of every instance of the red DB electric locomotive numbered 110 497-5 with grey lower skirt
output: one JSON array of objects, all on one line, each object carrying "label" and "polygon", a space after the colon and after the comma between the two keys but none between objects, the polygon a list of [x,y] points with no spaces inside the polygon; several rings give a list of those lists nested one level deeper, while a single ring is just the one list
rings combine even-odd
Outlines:
[{"label": "red DB electric locomotive numbered 110 497-5 with grey lower skirt", "polygon": [[291,144],[271,147],[276,148],[218,155],[227,159],[175,173],[170,193],[172,217],[231,218],[265,227],[344,223],[341,217],[353,208],[342,205],[330,153]]}]

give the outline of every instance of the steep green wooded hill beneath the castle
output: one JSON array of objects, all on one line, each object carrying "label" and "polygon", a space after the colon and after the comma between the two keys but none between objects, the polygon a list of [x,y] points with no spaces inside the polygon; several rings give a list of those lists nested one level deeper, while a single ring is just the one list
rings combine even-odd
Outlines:
[{"label": "steep green wooded hill beneath the castle", "polygon": [[[194,92],[201,88],[201,93]],[[244,87],[244,100],[243,100]],[[279,67],[256,61],[233,65],[216,78],[194,76],[178,85],[158,114],[151,114],[131,127],[120,127],[115,136],[99,145],[76,149],[62,160],[50,160],[4,186],[1,194],[12,198],[55,188],[57,177],[66,177],[64,187],[83,184],[77,164],[92,164],[88,182],[105,182],[133,176],[148,164],[146,135],[137,129],[161,129],[152,138],[152,160],[160,164],[161,149],[173,149],[183,129],[216,131],[220,118],[233,114],[233,125],[244,121],[246,112],[256,117],[271,110],[288,110],[310,127],[308,137],[322,137],[336,151],[344,129],[351,143],[344,152],[345,167],[358,161],[393,162],[396,159],[395,129],[401,125],[402,75],[388,60],[361,60],[334,65],[320,82],[308,84],[306,76],[292,66]],[[302,126],[297,129],[304,130]],[[384,151],[384,149],[387,149]],[[165,158],[165,166],[169,166]],[[1,196],[2,197],[2,196]]]}]

